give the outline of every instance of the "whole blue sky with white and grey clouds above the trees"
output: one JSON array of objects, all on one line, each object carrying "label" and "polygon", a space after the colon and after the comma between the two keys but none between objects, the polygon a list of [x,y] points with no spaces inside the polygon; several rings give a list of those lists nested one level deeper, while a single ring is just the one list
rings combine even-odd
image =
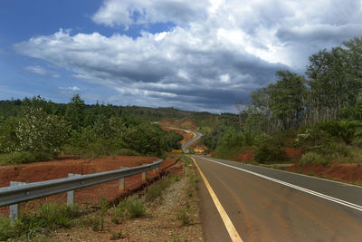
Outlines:
[{"label": "whole blue sky with white and grey clouds above the trees", "polygon": [[235,112],[354,36],[361,0],[1,0],[0,100]]}]

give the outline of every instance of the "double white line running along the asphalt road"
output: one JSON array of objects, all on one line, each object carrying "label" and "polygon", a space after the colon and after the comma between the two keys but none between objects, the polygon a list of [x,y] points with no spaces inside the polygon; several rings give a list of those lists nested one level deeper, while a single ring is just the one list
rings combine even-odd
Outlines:
[{"label": "double white line running along the asphalt road", "polygon": [[290,187],[290,188],[292,188],[292,189],[299,189],[299,190],[301,190],[301,191],[304,191],[304,192],[309,193],[309,194],[311,194],[311,195],[317,196],[317,197],[319,197],[319,198],[325,198],[325,199],[328,199],[329,201],[333,201],[333,202],[336,202],[336,203],[338,203],[338,204],[347,206],[347,207],[349,207],[349,208],[354,208],[354,209],[357,209],[358,211],[362,211],[362,206],[359,206],[359,205],[354,204],[354,203],[350,203],[350,202],[345,201],[345,200],[341,200],[341,199],[338,199],[338,198],[333,198],[333,197],[330,197],[330,196],[328,196],[328,195],[319,193],[319,192],[314,191],[314,190],[304,189],[304,188],[301,188],[301,187],[299,187],[299,186],[293,185],[293,184],[291,184],[291,183],[282,181],[282,180],[280,180],[280,179],[272,179],[272,178],[270,178],[270,177],[264,176],[264,175],[259,174],[259,173],[255,173],[255,172],[250,171],[250,170],[247,170],[247,169],[242,169],[242,168],[234,167],[234,166],[232,166],[232,165],[224,164],[224,163],[222,163],[222,162],[215,161],[215,160],[211,160],[211,159],[208,159],[208,158],[203,158],[203,159],[205,159],[205,160],[210,160],[210,161],[212,161],[212,162],[214,162],[214,163],[218,163],[218,164],[220,164],[220,165],[224,165],[224,166],[226,166],[226,167],[230,167],[230,168],[233,168],[233,169],[239,169],[239,170],[242,170],[242,171],[244,171],[244,172],[247,172],[247,173],[250,173],[250,174],[252,174],[252,175],[255,175],[255,176],[257,176],[257,177],[260,177],[260,178],[262,178],[262,179],[269,179],[269,180],[271,180],[271,181],[274,181],[274,182],[279,183],[279,184],[281,184],[281,185]]}]

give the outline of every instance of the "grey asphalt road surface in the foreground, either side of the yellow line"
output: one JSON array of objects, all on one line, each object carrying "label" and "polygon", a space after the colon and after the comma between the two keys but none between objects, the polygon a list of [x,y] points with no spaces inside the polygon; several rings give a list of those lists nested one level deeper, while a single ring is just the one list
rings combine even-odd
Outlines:
[{"label": "grey asphalt road surface in the foreground, either side of the yellow line", "polygon": [[[193,157],[243,241],[362,241],[360,187]],[[203,181],[199,189],[205,240],[231,241]]]}]

